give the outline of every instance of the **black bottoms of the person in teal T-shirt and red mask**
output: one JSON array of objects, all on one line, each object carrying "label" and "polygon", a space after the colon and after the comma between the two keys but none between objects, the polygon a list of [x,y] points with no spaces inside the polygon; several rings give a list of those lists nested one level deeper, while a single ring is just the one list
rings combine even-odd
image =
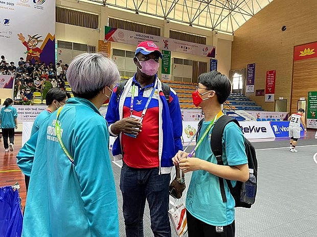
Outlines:
[{"label": "black bottoms of the person in teal T-shirt and red mask", "polygon": [[186,211],[188,237],[234,237],[235,221],[226,226],[213,226],[193,217]]}]

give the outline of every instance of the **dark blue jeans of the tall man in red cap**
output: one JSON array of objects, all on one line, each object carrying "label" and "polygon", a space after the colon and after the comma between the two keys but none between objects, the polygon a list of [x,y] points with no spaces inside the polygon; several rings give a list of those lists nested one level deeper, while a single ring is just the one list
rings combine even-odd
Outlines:
[{"label": "dark blue jeans of the tall man in red cap", "polygon": [[159,168],[134,169],[123,163],[120,189],[126,237],[143,237],[145,200],[149,203],[154,237],[171,237],[168,216],[170,174],[159,175]]}]

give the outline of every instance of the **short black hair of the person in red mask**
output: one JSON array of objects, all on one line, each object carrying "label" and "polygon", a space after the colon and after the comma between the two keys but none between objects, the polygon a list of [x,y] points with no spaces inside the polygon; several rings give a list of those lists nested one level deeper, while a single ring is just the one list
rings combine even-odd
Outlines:
[{"label": "short black hair of the person in red mask", "polygon": [[231,82],[229,78],[218,71],[200,74],[198,76],[198,83],[206,86],[210,90],[214,90],[220,104],[227,100],[231,92]]}]

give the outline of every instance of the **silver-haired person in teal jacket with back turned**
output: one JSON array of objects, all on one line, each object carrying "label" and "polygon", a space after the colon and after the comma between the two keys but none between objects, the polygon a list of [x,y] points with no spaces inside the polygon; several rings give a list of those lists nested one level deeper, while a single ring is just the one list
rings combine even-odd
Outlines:
[{"label": "silver-haired person in teal jacket with back turned", "polygon": [[71,62],[67,81],[75,97],[17,155],[31,175],[22,236],[119,237],[108,126],[99,112],[119,80],[115,63],[101,54]]}]

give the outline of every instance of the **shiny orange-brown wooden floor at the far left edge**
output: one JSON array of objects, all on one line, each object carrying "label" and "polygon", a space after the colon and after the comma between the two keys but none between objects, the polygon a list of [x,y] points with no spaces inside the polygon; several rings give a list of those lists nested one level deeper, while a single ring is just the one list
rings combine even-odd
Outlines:
[{"label": "shiny orange-brown wooden floor at the far left edge", "polygon": [[3,139],[0,144],[0,187],[12,186],[16,182],[20,185],[20,197],[22,198],[22,206],[26,202],[26,186],[24,174],[16,165],[16,155],[21,148],[22,135],[16,134],[14,139],[14,151],[5,152]]}]

